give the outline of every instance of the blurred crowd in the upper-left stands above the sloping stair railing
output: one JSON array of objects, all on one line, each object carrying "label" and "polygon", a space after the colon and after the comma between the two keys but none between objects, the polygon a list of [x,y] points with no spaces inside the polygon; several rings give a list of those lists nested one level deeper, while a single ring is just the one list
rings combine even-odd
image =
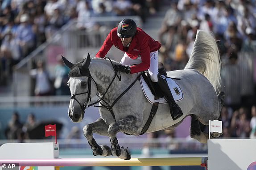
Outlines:
[{"label": "blurred crowd in the upper-left stands above the sloping stair railing", "polygon": [[[91,17],[154,15],[158,0],[0,0],[0,85],[12,67],[73,19],[94,29]],[[98,26],[98,25],[97,25]]]}]

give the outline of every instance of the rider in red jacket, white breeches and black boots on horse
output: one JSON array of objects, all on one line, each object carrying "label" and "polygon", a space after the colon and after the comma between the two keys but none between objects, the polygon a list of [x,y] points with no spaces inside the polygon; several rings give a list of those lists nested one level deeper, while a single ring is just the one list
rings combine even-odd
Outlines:
[{"label": "rider in red jacket, white breeches and black boots on horse", "polygon": [[173,120],[180,118],[183,113],[175,103],[165,77],[158,73],[158,50],[161,44],[137,28],[132,19],[124,19],[108,34],[96,57],[104,58],[113,45],[124,51],[120,62],[123,65],[114,64],[115,70],[131,74],[149,70],[152,81],[157,82],[169,102]]}]

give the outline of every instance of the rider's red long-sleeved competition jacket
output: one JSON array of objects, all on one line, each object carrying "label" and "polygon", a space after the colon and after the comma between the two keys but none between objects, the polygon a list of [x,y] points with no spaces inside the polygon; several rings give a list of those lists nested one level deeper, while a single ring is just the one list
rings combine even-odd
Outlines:
[{"label": "rider's red long-sleeved competition jacket", "polygon": [[[107,35],[106,40],[96,54],[98,58],[104,58],[110,48],[114,45],[116,48],[124,51],[123,44],[120,37],[117,36],[117,27],[113,28]],[[131,59],[136,59],[141,56],[141,63],[131,66],[131,74],[149,69],[150,66],[150,52],[157,51],[161,47],[161,43],[153,40],[141,28],[137,28],[135,36],[129,45],[128,51],[124,51]]]}]

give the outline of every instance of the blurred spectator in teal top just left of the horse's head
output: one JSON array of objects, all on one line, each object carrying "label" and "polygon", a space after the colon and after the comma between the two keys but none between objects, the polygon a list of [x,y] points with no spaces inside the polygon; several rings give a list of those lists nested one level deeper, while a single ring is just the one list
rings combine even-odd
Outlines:
[{"label": "blurred spectator in teal top just left of the horse's head", "polygon": [[55,94],[56,95],[70,95],[69,87],[67,86],[67,81],[69,79],[68,73],[70,69],[62,61],[62,56],[57,56],[58,64],[55,66]]}]

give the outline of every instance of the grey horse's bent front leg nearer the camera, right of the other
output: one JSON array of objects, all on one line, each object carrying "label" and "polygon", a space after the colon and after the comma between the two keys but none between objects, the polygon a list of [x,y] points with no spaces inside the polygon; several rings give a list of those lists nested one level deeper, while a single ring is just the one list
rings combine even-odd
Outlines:
[{"label": "grey horse's bent front leg nearer the camera, right of the other", "polygon": [[131,159],[131,154],[124,147],[120,148],[116,134],[119,131],[134,134],[138,129],[137,121],[134,116],[128,116],[125,119],[119,120],[117,122],[111,123],[107,130],[111,142],[111,153],[117,157],[125,160]]}]

